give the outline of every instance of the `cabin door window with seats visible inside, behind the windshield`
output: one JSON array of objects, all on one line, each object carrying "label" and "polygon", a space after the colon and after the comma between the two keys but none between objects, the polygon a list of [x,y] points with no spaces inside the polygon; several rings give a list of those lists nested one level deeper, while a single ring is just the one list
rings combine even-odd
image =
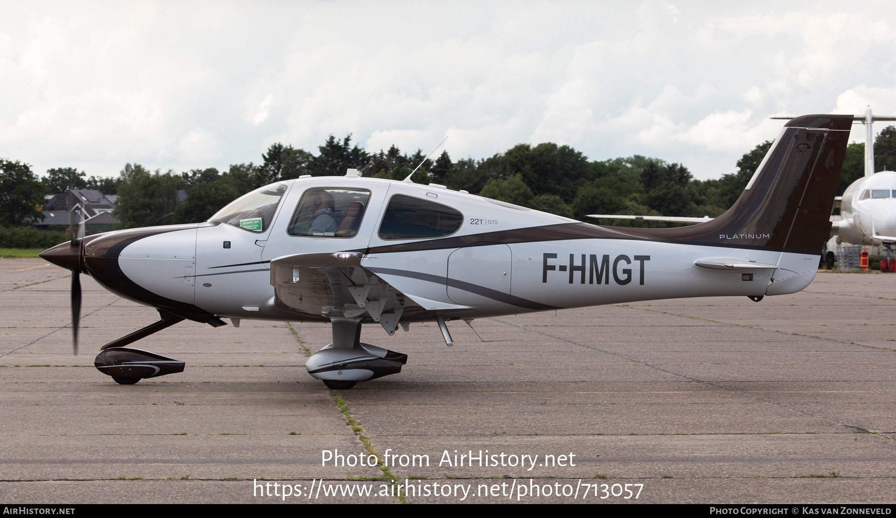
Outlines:
[{"label": "cabin door window with seats visible inside, behind the windshield", "polygon": [[289,221],[292,236],[355,237],[370,191],[347,187],[308,189]]}]

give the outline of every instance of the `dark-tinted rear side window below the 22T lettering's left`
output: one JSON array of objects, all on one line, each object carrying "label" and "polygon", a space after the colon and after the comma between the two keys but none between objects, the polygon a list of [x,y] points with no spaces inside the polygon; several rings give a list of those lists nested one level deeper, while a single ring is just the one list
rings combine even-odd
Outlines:
[{"label": "dark-tinted rear side window below the 22T lettering's left", "polygon": [[383,214],[383,239],[444,237],[461,228],[463,214],[442,203],[395,194]]}]

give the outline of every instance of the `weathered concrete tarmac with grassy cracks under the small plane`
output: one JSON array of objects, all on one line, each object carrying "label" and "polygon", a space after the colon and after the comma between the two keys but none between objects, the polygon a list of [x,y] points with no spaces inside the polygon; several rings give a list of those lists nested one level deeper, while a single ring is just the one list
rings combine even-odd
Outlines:
[{"label": "weathered concrete tarmac with grassy cracks under the small plane", "polygon": [[[642,503],[892,501],[896,275],[820,272],[804,291],[692,298],[449,323],[362,340],[409,354],[401,374],[334,394],[303,368],[323,324],[181,323],[134,347],[182,374],[118,385],[92,367],[157,319],[82,275],[72,356],[69,272],[0,260],[0,499],[8,503],[278,502],[253,479],[309,488],[383,477],[320,465],[322,450],[429,456],[416,484],[643,484]],[[293,333],[295,331],[295,334]],[[575,466],[448,466],[444,452],[574,454]],[[555,457],[556,459],[557,457]],[[509,457],[507,457],[509,461]],[[567,457],[567,461],[569,458]],[[592,479],[596,474],[607,479]],[[358,481],[360,479],[360,481]],[[414,503],[455,496],[409,496]],[[359,502],[358,496],[286,501]],[[369,496],[365,503],[398,503]],[[470,496],[465,502],[508,502]],[[515,498],[513,499],[515,502]],[[633,502],[621,496],[521,502]]]}]

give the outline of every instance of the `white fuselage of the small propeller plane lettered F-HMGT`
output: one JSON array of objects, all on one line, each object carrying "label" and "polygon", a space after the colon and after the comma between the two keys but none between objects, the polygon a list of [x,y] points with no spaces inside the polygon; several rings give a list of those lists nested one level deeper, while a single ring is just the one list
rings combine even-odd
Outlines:
[{"label": "white fuselage of the small propeller plane lettered F-HMGT", "polygon": [[[896,173],[892,176],[896,187]],[[527,229],[576,221],[439,186],[362,177],[314,177],[280,184],[287,187],[286,193],[263,232],[203,223],[141,238],[121,251],[122,272],[144,289],[214,315],[274,320],[289,315],[275,304],[270,262],[286,255],[362,251],[364,268],[426,311],[445,318],[657,298],[778,295],[805,288],[818,266],[818,255],[723,246],[722,241],[718,246],[624,236],[530,241],[525,238]],[[288,233],[306,189],[340,186],[370,191],[357,235]],[[515,237],[495,238],[494,244],[479,246],[447,242],[434,249],[414,248],[420,239],[385,239],[378,229],[394,194],[442,203],[461,212],[461,227],[450,237],[510,231],[516,232]],[[878,202],[851,202],[846,210],[853,210],[856,203]],[[892,203],[892,198],[885,203]],[[888,218],[882,216],[882,223],[889,225]],[[414,249],[402,250],[405,245]],[[778,269],[727,271],[694,264],[711,258]],[[770,286],[771,279],[775,282]]]}]

